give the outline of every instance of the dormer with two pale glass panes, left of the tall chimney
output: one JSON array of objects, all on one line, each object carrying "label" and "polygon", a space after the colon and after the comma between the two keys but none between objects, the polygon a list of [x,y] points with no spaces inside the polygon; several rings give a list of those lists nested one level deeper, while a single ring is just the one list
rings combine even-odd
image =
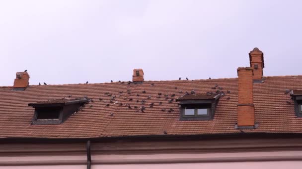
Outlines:
[{"label": "dormer with two pale glass panes, left of the tall chimney", "polygon": [[212,120],[220,95],[184,95],[180,104],[180,120]]}]

